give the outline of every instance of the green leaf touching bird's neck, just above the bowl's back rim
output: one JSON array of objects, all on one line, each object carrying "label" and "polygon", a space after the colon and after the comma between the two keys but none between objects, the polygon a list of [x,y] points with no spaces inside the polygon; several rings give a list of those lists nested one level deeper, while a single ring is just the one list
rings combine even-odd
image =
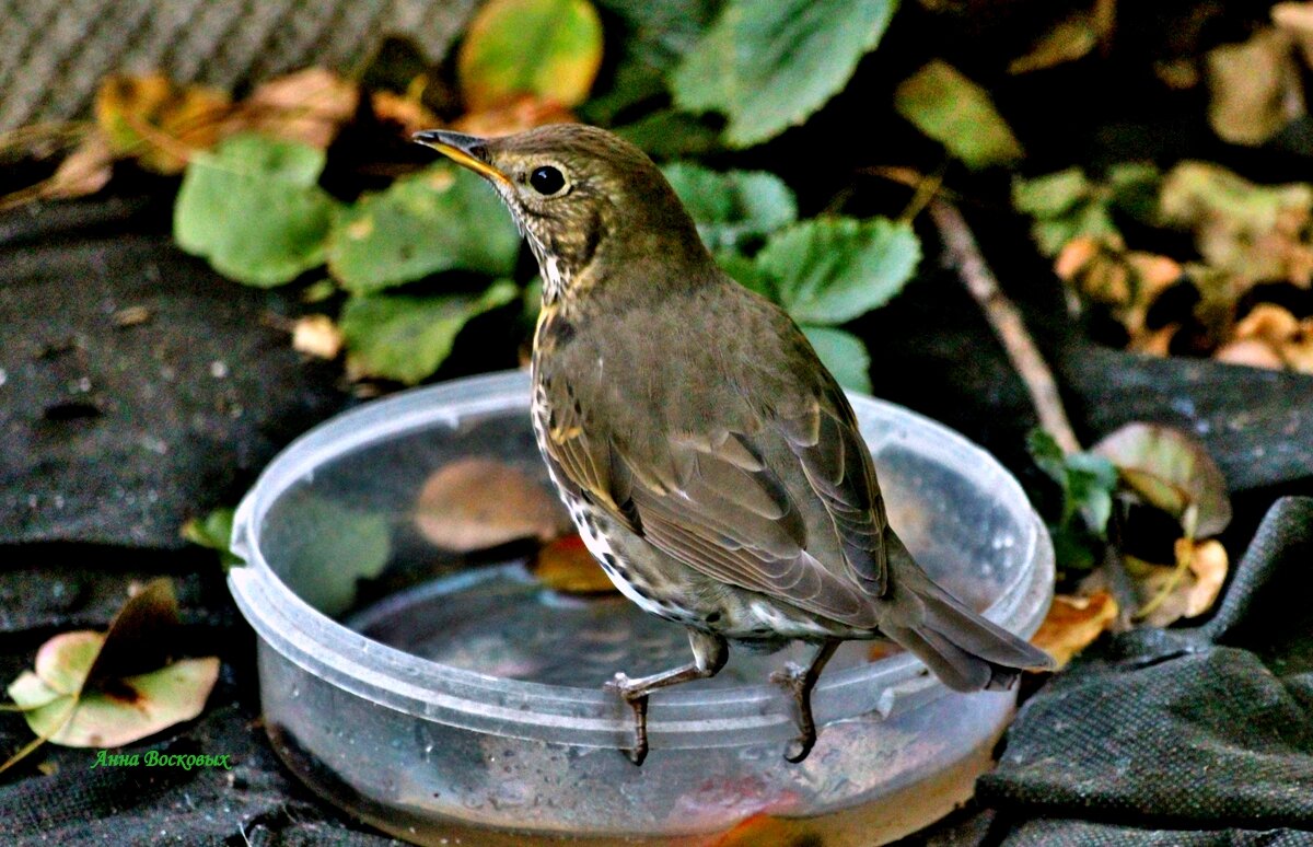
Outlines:
[{"label": "green leaf touching bird's neck, just above the bowl's back rim", "polygon": [[341,310],[352,362],[364,373],[416,383],[437,370],[465,323],[517,295],[515,284],[494,282],[482,295],[353,297]]}]

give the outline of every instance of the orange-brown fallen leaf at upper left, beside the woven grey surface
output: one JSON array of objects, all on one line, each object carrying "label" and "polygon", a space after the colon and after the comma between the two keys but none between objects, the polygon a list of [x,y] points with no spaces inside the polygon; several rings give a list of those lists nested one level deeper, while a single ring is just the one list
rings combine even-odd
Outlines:
[{"label": "orange-brown fallen leaf at upper left, beside the woven grey surface", "polygon": [[160,74],[106,76],[96,92],[96,123],[114,154],[159,173],[177,173],[192,152],[213,147],[230,109],[225,92]]}]

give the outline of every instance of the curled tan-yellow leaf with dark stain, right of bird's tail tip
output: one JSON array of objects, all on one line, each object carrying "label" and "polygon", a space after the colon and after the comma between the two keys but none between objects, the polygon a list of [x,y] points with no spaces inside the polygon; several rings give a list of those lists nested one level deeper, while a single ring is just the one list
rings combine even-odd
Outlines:
[{"label": "curled tan-yellow leaf with dark stain, right of bird's tail tip", "polygon": [[1216,540],[1200,544],[1179,538],[1176,566],[1152,565],[1127,557],[1141,607],[1136,617],[1150,626],[1167,626],[1182,617],[1197,617],[1211,609],[1226,582],[1226,548]]}]

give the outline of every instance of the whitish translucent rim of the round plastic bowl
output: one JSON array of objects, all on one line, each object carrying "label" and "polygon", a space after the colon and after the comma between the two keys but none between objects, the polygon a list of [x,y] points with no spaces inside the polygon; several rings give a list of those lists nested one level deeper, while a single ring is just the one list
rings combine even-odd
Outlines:
[{"label": "whitish translucent rim of the round plastic bowl", "polygon": [[[892,423],[906,424],[903,431],[910,437],[934,441],[939,457],[969,461],[978,469],[974,475],[981,483],[1028,513],[1025,537],[1018,544],[1024,546],[1023,561],[1029,559],[1032,566],[1018,569],[985,615],[1023,637],[1033,634],[1052,599],[1053,548],[1016,479],[993,456],[943,424],[885,401],[852,393],[848,398],[856,410],[880,410]],[[326,462],[416,428],[454,428],[462,419],[513,408],[528,415],[529,376],[523,370],[414,389],[310,429],[265,467],[238,507],[232,550],[246,565],[230,571],[228,586],[242,613],[269,647],[305,671],[378,705],[499,735],[624,746],[633,728],[629,709],[600,687],[490,676],[372,641],[306,604],[274,575],[260,549],[260,525],[269,507]],[[882,720],[947,692],[918,659],[898,654],[826,675],[813,703],[818,724],[872,716]],[[675,688],[653,697],[659,704],[649,720],[654,747],[721,747],[784,741],[796,734],[792,701],[777,685]]]}]

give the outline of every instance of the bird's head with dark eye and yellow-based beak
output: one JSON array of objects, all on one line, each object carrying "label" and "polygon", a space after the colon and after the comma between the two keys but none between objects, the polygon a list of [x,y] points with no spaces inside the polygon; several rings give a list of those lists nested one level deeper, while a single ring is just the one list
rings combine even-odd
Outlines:
[{"label": "bird's head with dark eye and yellow-based beak", "polygon": [[538,259],[549,298],[597,259],[709,261],[660,169],[612,133],[554,123],[500,138],[446,130],[414,138],[496,188]]}]

